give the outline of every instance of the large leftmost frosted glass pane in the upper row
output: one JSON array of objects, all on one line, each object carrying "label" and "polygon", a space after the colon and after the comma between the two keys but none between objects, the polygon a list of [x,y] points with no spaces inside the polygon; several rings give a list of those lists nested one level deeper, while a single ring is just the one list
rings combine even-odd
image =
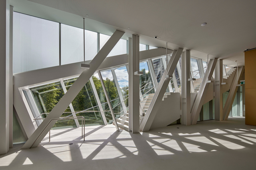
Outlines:
[{"label": "large leftmost frosted glass pane in the upper row", "polygon": [[13,73],[59,65],[59,23],[13,13]]}]

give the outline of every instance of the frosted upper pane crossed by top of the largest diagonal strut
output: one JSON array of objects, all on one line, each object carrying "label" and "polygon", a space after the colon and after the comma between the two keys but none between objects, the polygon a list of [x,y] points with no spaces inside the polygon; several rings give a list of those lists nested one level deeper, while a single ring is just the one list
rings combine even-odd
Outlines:
[{"label": "frosted upper pane crossed by top of the largest diagonal strut", "polygon": [[[106,44],[108,39],[110,39],[109,35],[100,34],[100,49]],[[120,39],[107,57],[121,54],[127,54],[127,41],[125,39]]]}]

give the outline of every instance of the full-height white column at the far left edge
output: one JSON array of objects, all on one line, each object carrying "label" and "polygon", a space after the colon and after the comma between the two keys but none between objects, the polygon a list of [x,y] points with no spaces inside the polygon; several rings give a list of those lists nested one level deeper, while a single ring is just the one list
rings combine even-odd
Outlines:
[{"label": "full-height white column at the far left edge", "polygon": [[[10,2],[9,0],[0,1],[0,78],[2,80],[0,88],[0,154],[5,154],[9,150],[9,90],[10,90],[10,58],[9,58],[9,39],[10,39]],[[12,113],[11,113],[12,114]]]}]

